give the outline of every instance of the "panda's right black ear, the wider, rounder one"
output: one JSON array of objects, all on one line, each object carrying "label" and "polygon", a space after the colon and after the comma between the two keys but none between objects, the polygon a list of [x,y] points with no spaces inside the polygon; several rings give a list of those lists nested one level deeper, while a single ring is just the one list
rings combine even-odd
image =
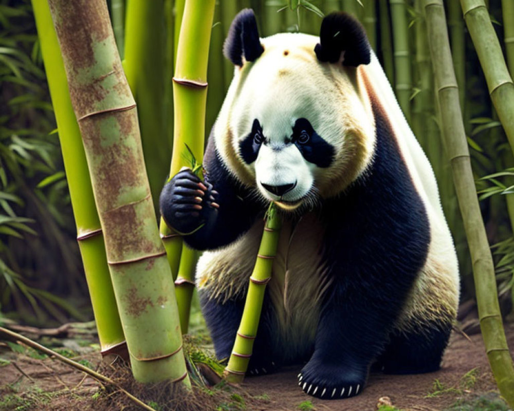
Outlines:
[{"label": "panda's right black ear, the wider, rounder one", "polygon": [[328,14],[321,22],[320,42],[314,48],[318,60],[336,63],[344,51],[343,65],[369,64],[371,47],[362,25],[350,14]]}]

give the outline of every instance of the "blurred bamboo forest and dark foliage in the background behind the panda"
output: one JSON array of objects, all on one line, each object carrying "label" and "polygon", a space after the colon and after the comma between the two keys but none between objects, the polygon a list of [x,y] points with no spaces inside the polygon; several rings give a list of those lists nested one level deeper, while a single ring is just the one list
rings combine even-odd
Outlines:
[{"label": "blurred bamboo forest and dark foliage in the background behind the panda", "polygon": [[[127,7],[127,2],[134,4]],[[139,10],[137,0],[127,2],[107,3],[138,104],[146,169],[156,204],[172,150],[175,5],[172,0],[159,0]],[[296,10],[288,7],[297,3]],[[419,3],[217,2],[209,50],[206,130],[215,121],[232,77],[233,67],[223,58],[222,46],[239,10],[254,9],[263,36],[281,31],[317,34],[321,13],[346,10],[356,15],[434,167],[460,261],[462,300],[466,301],[474,295],[471,261],[442,147],[427,30]],[[487,6],[512,75],[514,33],[509,29],[514,29],[514,4],[490,0]],[[500,302],[507,315],[514,284],[514,157],[492,107],[460,2],[449,0],[446,7],[476,191],[494,253]],[[28,0],[0,0],[0,110],[0,319],[40,326],[90,319],[58,130]]]}]

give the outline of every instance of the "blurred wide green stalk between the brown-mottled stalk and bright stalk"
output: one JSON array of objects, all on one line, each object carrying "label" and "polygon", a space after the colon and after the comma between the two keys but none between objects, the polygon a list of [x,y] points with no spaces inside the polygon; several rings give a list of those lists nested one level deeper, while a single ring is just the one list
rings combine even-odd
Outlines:
[{"label": "blurred wide green stalk between the brown-mottled stalk and bright stalk", "polygon": [[164,2],[128,0],[123,70],[138,106],[144,162],[155,210],[172,147],[164,111],[165,40]]}]

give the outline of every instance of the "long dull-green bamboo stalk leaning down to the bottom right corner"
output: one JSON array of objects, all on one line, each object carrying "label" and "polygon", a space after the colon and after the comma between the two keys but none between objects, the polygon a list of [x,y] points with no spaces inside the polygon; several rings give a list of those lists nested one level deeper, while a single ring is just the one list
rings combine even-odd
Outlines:
[{"label": "long dull-green bamboo stalk leaning down to the bottom right corner", "polygon": [[424,8],[446,153],[450,159],[455,189],[473,260],[480,327],[489,364],[500,393],[512,406],[514,405],[514,366],[505,339],[498,304],[494,265],[476,197],[466,133],[458,102],[458,87],[452,67],[443,1],[424,0]]}]

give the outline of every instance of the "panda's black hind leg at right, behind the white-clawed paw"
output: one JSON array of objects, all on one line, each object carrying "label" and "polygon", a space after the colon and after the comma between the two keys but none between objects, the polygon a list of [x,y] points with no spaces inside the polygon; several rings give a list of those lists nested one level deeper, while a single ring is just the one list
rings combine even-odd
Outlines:
[{"label": "panda's black hind leg at right, behind the white-clawed paw", "polygon": [[437,371],[451,328],[451,323],[430,323],[406,332],[394,331],[373,369],[388,374]]}]

